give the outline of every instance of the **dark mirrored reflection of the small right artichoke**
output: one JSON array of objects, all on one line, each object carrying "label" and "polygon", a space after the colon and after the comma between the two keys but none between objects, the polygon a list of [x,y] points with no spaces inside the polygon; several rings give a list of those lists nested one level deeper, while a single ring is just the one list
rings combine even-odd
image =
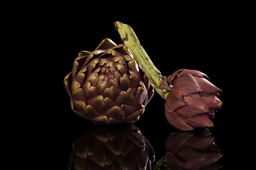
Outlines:
[{"label": "dark mirrored reflection of the small right artichoke", "polygon": [[221,166],[213,163],[222,154],[210,133],[206,128],[172,133],[166,140],[166,156],[154,170],[218,170]]}]

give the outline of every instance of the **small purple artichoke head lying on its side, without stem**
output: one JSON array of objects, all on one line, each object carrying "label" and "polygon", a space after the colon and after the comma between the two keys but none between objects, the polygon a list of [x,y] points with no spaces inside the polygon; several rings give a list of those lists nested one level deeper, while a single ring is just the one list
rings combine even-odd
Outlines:
[{"label": "small purple artichoke head lying on its side, without stem", "polygon": [[180,69],[163,79],[159,88],[169,91],[165,115],[172,126],[180,130],[213,126],[210,118],[222,106],[218,99],[221,90],[209,82],[207,75],[196,70]]}]

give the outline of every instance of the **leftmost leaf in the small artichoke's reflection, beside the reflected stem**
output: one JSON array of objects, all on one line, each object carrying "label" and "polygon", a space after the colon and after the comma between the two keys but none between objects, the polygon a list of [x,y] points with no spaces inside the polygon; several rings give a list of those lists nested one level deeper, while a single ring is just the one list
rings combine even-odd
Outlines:
[{"label": "leftmost leaf in the small artichoke's reflection, beside the reflected stem", "polygon": [[180,161],[173,153],[166,152],[166,160],[169,167],[173,170],[183,170],[185,163]]}]

